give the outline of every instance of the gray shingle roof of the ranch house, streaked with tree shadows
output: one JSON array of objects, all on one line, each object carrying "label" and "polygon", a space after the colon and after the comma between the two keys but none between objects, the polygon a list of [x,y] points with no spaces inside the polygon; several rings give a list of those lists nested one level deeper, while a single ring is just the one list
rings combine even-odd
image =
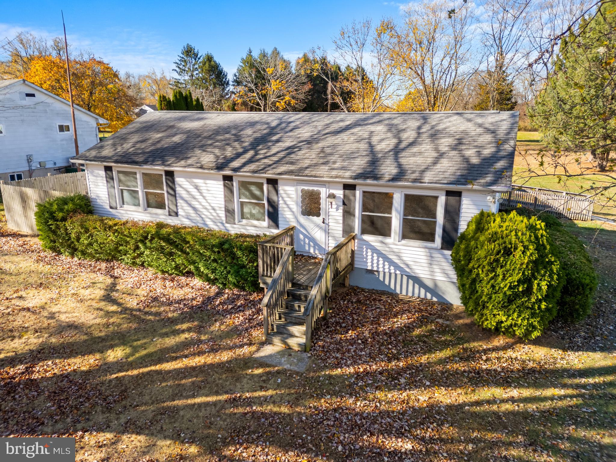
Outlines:
[{"label": "gray shingle roof of the ranch house, streaked with tree shadows", "polygon": [[498,111],[158,111],[140,117],[79,159],[272,177],[459,186],[472,182],[500,188],[511,185],[517,118],[517,112]]}]

